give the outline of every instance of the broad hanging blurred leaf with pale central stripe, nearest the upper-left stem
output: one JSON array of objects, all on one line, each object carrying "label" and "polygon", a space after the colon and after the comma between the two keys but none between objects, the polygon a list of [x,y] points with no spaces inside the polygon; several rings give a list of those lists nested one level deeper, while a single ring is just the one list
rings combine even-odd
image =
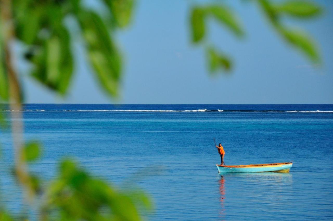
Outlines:
[{"label": "broad hanging blurred leaf with pale central stripe, nearest the upper-left stem", "polygon": [[55,30],[43,45],[35,48],[32,76],[50,89],[64,95],[73,74],[70,36],[64,27]]}]

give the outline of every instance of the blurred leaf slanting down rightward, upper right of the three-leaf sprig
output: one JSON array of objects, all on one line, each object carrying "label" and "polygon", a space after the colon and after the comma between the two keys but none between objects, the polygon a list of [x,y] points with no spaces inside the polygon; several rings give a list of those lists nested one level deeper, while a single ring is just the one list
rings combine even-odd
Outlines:
[{"label": "blurred leaf slanting down rightward, upper right of the three-leaf sprig", "polygon": [[229,28],[235,35],[242,36],[244,34],[239,18],[226,6],[211,5],[207,10],[217,21]]}]

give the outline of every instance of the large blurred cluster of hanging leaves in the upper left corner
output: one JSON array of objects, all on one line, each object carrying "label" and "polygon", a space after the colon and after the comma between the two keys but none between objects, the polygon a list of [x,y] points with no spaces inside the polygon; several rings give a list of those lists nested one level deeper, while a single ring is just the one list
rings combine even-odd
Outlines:
[{"label": "large blurred cluster of hanging leaves in the upper left corner", "polygon": [[[74,67],[73,41],[65,25],[68,17],[79,24],[87,57],[103,89],[117,94],[121,57],[113,33],[129,24],[134,0],[99,2],[108,13],[93,11],[81,0],[13,0],[15,34],[26,45],[24,57],[33,64],[31,75],[61,95],[68,90]],[[6,76],[1,70],[0,66],[0,84]],[[4,87],[0,87],[0,95],[6,95]]]}]

